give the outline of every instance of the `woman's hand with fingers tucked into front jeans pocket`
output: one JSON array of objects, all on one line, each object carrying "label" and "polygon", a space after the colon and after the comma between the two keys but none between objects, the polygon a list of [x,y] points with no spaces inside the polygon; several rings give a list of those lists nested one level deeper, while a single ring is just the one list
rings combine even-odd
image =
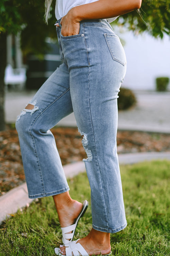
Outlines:
[{"label": "woman's hand with fingers tucked into front jeans pocket", "polygon": [[[80,30],[80,21],[74,18],[74,8],[72,8],[62,19],[61,19],[61,34],[64,37],[78,35]],[[59,24],[55,24],[59,27]]]}]

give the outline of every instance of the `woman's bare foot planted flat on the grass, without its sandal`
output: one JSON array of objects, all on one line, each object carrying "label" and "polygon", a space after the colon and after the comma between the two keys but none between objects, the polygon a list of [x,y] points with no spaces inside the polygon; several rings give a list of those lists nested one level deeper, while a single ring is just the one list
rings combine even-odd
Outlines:
[{"label": "woman's bare foot planted flat on the grass, without its sandal", "polygon": [[[110,234],[92,228],[87,237],[80,239],[80,243],[88,255],[105,255],[111,252]],[[62,255],[66,255],[65,246],[60,246]]]}]

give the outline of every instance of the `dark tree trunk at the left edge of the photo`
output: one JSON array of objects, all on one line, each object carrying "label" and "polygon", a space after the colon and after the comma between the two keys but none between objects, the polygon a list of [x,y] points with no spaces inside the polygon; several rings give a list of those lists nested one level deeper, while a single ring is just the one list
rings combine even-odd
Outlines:
[{"label": "dark tree trunk at the left edge of the photo", "polygon": [[6,33],[0,34],[0,131],[5,130],[4,75],[5,75],[5,67],[6,67],[6,37],[7,37]]}]

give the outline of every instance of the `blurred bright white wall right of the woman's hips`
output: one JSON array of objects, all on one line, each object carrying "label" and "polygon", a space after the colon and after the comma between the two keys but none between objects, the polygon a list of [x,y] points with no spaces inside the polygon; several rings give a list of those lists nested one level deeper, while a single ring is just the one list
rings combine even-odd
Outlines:
[{"label": "blurred bright white wall right of the woman's hips", "polygon": [[[155,78],[170,78],[170,37],[155,39],[148,33],[134,36],[131,31],[118,33],[125,41],[127,71],[123,87],[155,90]],[[170,84],[169,87],[170,89]]]}]

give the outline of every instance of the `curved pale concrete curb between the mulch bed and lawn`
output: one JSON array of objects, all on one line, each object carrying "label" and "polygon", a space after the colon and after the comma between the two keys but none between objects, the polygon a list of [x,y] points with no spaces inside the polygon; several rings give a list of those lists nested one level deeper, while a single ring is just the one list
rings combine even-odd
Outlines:
[{"label": "curved pale concrete curb between the mulch bed and lawn", "polygon": [[[143,161],[151,161],[156,159],[170,160],[170,152],[142,152],[119,154],[119,164],[133,164]],[[71,178],[80,172],[85,171],[83,161],[67,164],[63,166],[67,178]],[[10,214],[16,213],[19,208],[30,204],[34,199],[28,198],[28,190],[26,183],[10,190],[0,197],[0,224]]]}]

